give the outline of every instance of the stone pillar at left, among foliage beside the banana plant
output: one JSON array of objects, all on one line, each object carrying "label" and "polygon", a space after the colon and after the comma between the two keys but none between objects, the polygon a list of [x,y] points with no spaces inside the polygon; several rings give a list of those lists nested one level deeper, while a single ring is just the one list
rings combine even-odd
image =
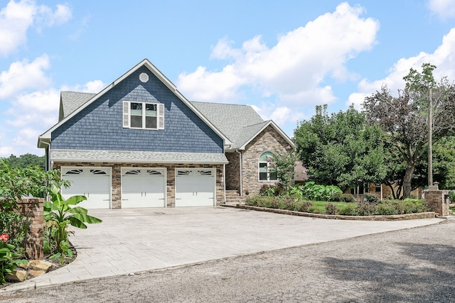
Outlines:
[{"label": "stone pillar at left, among foliage beside the banana plant", "polygon": [[26,257],[43,260],[43,198],[24,198],[18,202],[18,212],[28,216],[30,228],[27,233],[25,249]]}]

